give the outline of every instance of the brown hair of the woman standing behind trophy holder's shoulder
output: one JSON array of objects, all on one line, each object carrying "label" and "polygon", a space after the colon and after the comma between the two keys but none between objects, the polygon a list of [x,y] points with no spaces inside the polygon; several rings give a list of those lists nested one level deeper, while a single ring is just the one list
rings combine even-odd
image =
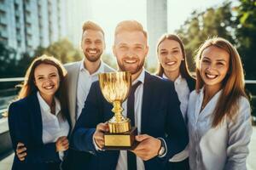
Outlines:
[{"label": "brown hair of the woman standing behind trophy holder's shoulder", "polygon": [[[178,37],[177,35],[175,34],[164,34],[162,37],[160,37],[160,40],[159,42],[157,43],[157,46],[156,46],[156,50],[157,50],[157,54],[159,54],[159,46],[160,46],[160,43],[165,41],[165,40],[173,40],[173,41],[176,41],[179,43],[180,45],[180,48],[182,50],[182,54],[183,54],[183,59],[180,66],[179,66],[179,71],[180,71],[180,74],[183,78],[185,79],[189,79],[189,78],[193,78],[190,74],[189,74],[189,69],[188,69],[188,64],[187,64],[187,59],[186,59],[186,53],[185,53],[185,48],[184,48],[184,44],[182,42],[182,40],[180,39],[180,37]],[[160,76],[162,77],[164,74],[164,68],[162,65],[160,65],[159,63],[159,66],[158,66],[158,70],[156,72],[156,75],[157,76]]]}]

